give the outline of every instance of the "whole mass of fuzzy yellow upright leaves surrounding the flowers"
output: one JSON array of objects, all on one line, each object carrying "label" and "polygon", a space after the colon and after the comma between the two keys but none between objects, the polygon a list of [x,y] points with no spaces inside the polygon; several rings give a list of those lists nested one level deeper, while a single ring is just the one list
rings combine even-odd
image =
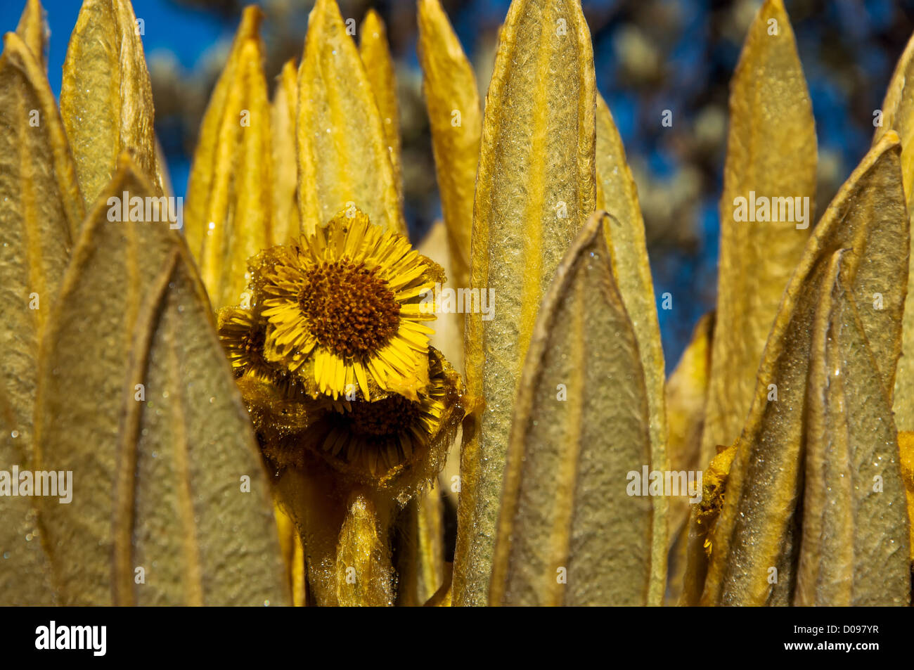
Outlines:
[{"label": "whole mass of fuzzy yellow upright leaves surrounding the flowers", "polygon": [[[5,37],[0,463],[69,470],[76,486],[71,505],[0,498],[5,601],[909,604],[914,357],[898,361],[914,348],[914,47],[813,234],[746,224],[732,205],[749,191],[814,196],[790,23],[781,0],[761,6],[732,86],[717,314],[667,382],[637,192],[579,1],[514,0],[483,111],[441,6],[420,0],[444,219],[426,253],[498,301],[493,319],[443,315],[436,340],[479,399],[448,566],[440,487],[398,500],[300,467],[271,481],[257,394],[246,407],[219,345],[214,310],[243,300],[261,250],[349,203],[405,233],[377,15],[356,47],[318,0],[273,101],[259,16],[245,12],[209,103],[185,235],[108,218],[112,197],[167,193],[128,0],[85,0],[59,111],[37,0]],[[284,400],[261,432],[281,427]],[[706,465],[691,513],[626,490],[645,467]]]}]

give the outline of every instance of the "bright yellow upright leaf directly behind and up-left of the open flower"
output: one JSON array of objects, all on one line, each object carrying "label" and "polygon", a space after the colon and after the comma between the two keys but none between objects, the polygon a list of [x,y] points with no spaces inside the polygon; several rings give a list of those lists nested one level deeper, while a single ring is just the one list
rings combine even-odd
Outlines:
[{"label": "bright yellow upright leaf directly behind and up-left of the open flower", "polygon": [[248,260],[272,240],[271,107],[259,24],[260,10],[245,10],[187,184],[187,244],[217,309],[244,302]]}]

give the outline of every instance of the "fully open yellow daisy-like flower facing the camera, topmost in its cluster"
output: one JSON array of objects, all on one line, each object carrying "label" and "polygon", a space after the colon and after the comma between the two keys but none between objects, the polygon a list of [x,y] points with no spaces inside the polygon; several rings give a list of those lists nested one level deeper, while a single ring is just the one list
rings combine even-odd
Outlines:
[{"label": "fully open yellow daisy-like flower facing the camera, topmost in its cluster", "polygon": [[441,267],[353,208],[298,245],[273,247],[252,266],[254,299],[269,321],[264,356],[307,388],[338,398],[356,388],[418,400],[429,385],[434,319],[425,296]]}]

